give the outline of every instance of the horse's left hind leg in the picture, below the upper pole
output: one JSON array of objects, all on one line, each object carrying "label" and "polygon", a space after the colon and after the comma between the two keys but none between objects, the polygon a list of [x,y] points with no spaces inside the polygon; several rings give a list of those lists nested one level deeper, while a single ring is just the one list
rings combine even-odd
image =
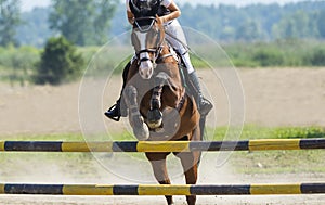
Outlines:
[{"label": "horse's left hind leg in the picture, below the upper pole", "polygon": [[[156,180],[160,184],[170,184],[170,179],[167,172],[166,156],[168,153],[145,153],[152,164]],[[168,205],[172,205],[172,196],[166,195]]]}]

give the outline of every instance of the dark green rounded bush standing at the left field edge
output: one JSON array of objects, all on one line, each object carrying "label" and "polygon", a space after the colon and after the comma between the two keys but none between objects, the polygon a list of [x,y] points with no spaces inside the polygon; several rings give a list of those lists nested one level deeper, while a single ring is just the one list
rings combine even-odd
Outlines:
[{"label": "dark green rounded bush standing at the left field edge", "polygon": [[81,54],[64,37],[50,38],[34,78],[36,84],[60,85],[79,77],[84,66]]}]

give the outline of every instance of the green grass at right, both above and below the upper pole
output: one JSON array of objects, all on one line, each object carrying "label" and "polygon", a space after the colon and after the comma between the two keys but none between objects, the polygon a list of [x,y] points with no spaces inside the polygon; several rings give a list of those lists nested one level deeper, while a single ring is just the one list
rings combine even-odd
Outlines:
[{"label": "green grass at right, both above and below the upper pole", "polygon": [[[242,139],[325,138],[321,127],[247,126]],[[236,152],[231,164],[240,174],[325,172],[325,150]]]}]

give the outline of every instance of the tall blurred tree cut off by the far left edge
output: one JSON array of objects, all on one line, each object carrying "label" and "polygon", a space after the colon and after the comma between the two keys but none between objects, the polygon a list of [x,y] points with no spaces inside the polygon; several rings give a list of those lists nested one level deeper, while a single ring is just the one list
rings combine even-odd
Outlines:
[{"label": "tall blurred tree cut off by the far left edge", "polygon": [[21,21],[21,0],[0,0],[0,46],[17,44],[16,27]]}]

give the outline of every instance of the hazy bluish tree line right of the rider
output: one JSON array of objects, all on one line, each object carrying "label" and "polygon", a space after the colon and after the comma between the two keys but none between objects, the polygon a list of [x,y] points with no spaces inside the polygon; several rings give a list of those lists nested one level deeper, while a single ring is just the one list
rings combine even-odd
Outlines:
[{"label": "hazy bluish tree line right of the rider", "polygon": [[[199,14],[199,15],[198,15]],[[325,1],[182,8],[182,25],[223,41],[325,38]]]}]

